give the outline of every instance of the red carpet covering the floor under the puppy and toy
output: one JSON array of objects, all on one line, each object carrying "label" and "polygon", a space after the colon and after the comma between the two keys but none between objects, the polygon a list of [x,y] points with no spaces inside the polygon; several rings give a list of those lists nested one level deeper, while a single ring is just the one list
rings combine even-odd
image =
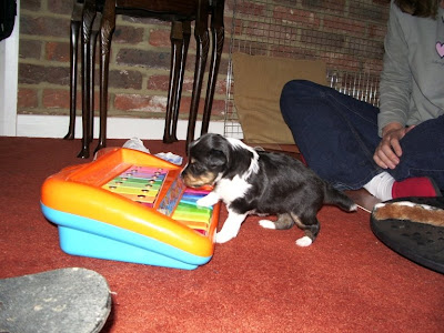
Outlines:
[{"label": "red carpet covering the floor under the puppy and toy", "polygon": [[[144,143],[184,155],[183,142]],[[306,249],[294,244],[302,231],[265,230],[248,218],[195,271],[68,255],[40,211],[40,186],[87,162],[79,150],[79,140],[0,138],[0,279],[97,271],[113,293],[103,332],[443,332],[444,276],[379,242],[361,210],[322,209],[320,236]]]}]

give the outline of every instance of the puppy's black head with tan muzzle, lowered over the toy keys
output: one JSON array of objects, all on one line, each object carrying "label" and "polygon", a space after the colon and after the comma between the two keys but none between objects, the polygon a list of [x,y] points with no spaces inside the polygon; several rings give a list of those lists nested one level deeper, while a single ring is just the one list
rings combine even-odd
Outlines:
[{"label": "puppy's black head with tan muzzle, lowered over the toy keys", "polygon": [[204,134],[190,144],[189,163],[182,170],[186,186],[213,185],[223,174],[229,162],[229,148],[225,138],[219,134]]}]

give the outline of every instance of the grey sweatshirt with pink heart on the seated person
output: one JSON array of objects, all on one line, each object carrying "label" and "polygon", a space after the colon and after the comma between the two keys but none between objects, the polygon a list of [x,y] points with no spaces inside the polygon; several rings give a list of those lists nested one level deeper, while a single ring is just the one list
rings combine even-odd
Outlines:
[{"label": "grey sweatshirt with pink heart on the seated person", "polygon": [[[379,130],[444,114],[444,10],[436,20],[404,13],[391,2],[380,84]],[[443,129],[444,130],[444,129]]]}]

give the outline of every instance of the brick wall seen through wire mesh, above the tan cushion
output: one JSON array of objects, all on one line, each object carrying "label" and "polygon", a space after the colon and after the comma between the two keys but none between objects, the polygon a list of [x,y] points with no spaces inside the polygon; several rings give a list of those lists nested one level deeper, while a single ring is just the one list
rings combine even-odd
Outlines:
[{"label": "brick wall seen through wire mesh, above the tan cushion", "polygon": [[390,0],[236,0],[233,50],[379,73]]}]

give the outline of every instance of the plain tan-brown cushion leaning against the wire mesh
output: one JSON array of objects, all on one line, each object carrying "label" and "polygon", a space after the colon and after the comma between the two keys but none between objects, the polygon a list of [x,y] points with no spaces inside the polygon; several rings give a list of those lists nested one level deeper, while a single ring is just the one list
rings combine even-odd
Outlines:
[{"label": "plain tan-brown cushion leaning against the wire mesh", "polygon": [[279,100],[284,84],[305,79],[326,84],[326,65],[319,60],[233,54],[234,105],[248,143],[294,144]]}]

